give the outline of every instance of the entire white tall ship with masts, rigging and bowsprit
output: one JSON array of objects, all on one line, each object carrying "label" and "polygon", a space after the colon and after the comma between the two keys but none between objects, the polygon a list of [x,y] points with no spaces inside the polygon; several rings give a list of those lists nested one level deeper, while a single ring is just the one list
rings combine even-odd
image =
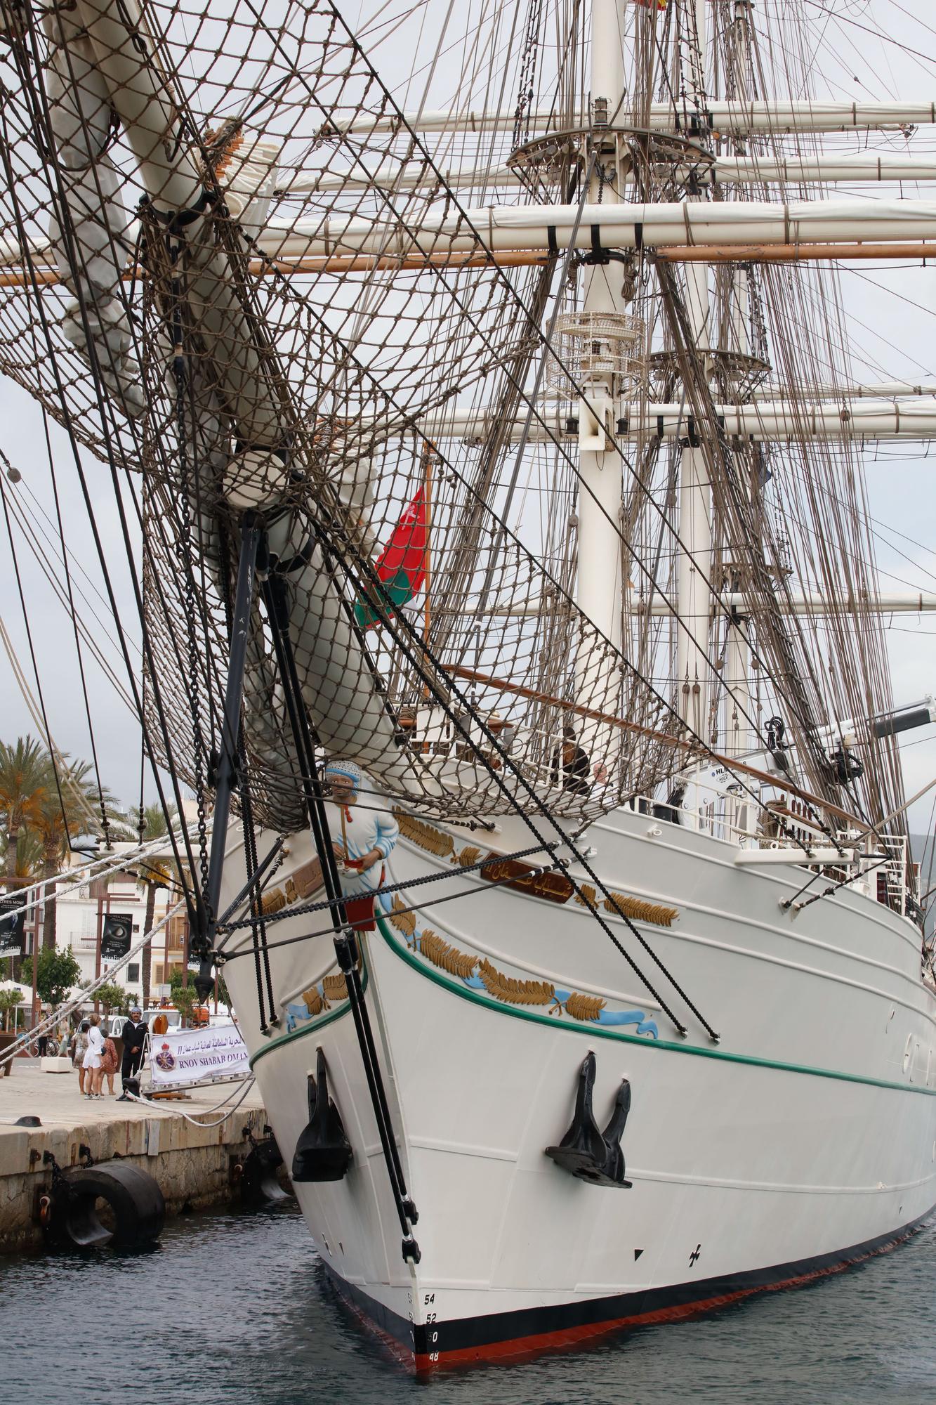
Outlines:
[{"label": "entire white tall ship with masts, rigging and bowsprit", "polygon": [[936,385],[840,294],[936,256],[936,104],[826,97],[777,0],[356,8],[4,0],[0,368],[112,486],[197,981],[429,1371],[936,1203],[885,641],[933,599],[863,459]]}]

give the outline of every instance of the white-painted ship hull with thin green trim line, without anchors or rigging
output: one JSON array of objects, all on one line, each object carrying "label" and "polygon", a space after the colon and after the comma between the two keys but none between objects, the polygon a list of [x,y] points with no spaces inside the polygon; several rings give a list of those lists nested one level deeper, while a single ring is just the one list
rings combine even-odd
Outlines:
[{"label": "white-painted ship hull with thin green trim line, without anchors or rigging", "polygon": [[[476,976],[440,969],[391,922],[363,939],[419,1208],[417,1266],[402,1259],[347,1002],[285,1033],[284,1013],[264,1037],[253,961],[226,967],[287,1165],[308,1121],[306,1073],[325,1051],[354,1159],[340,1182],[297,1186],[299,1204],[329,1272],[417,1368],[680,1316],[831,1272],[895,1243],[936,1203],[936,998],[912,923],[849,889],[790,917],[780,902],[808,880],[801,867],[739,870],[734,846],[644,815],[617,812],[587,837],[606,885],[679,910],[672,929],[641,930],[721,1040],[687,1016],[617,917],[609,924],[686,1016],[687,1038],[575,901],[476,875],[415,889],[412,901],[427,903],[415,936],[431,929],[505,975],[550,982],[558,998],[606,1000],[600,1023],[505,1003]],[[496,847],[528,839],[506,822]],[[311,854],[302,836],[291,846],[280,884]],[[386,882],[450,868],[450,857],[402,839]],[[429,894],[453,882],[474,895],[433,909]],[[228,884],[233,894],[236,864]],[[268,939],[325,926],[327,913],[287,917]],[[270,957],[277,1000],[292,1014],[304,984],[334,969],[327,936]],[[632,1019],[613,1023],[618,1014]],[[621,1079],[631,1085],[631,1189],[583,1183],[544,1155],[572,1120],[589,1050],[599,1125]]]}]

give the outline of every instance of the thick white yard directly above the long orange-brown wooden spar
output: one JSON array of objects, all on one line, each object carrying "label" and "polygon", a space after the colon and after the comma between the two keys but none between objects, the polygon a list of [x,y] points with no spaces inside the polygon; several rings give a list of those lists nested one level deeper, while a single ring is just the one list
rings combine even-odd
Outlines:
[{"label": "thick white yard directly above the long orange-brown wooden spar", "polygon": [[[273,259],[507,253],[711,244],[802,244],[843,240],[936,239],[936,201],[807,200],[686,201],[623,205],[488,205],[429,215],[408,226],[329,215],[288,226],[270,223],[260,244]],[[552,235],[551,235],[552,230]]]}]

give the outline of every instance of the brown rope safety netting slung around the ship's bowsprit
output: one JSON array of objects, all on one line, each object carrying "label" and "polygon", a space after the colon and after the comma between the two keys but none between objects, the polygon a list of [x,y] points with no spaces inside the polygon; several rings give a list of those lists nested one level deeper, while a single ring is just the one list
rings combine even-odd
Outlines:
[{"label": "brown rope safety netting slung around the ship's bowsprit", "polygon": [[[3,237],[20,271],[1,364],[143,473],[149,697],[176,771],[201,788],[245,511],[264,514],[287,580],[316,739],[395,792],[503,808],[490,735],[548,791],[571,722],[593,733],[599,784],[559,787],[559,808],[616,804],[684,764],[669,708],[569,599],[564,455],[524,451],[555,482],[519,537],[500,516],[510,436],[499,457],[446,424],[454,398],[516,406],[544,270],[507,278],[483,253],[434,266],[438,181],[413,178],[431,163],[333,7],[11,13]],[[378,249],[354,251],[363,229]],[[299,823],[260,606],[245,728],[259,818]]]}]

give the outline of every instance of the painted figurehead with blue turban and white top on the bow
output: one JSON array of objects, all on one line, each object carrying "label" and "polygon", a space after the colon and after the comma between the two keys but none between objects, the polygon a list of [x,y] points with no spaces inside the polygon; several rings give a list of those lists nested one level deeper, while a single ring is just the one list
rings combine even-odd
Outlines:
[{"label": "painted figurehead with blue turban and white top on the bow", "polygon": [[358,798],[364,773],[354,762],[330,762],[325,769],[325,783],[342,816],[342,842],[334,842],[339,860],[342,892],[349,920],[358,932],[374,930],[372,894],[384,880],[384,865],[399,839],[399,826],[386,809]]}]

